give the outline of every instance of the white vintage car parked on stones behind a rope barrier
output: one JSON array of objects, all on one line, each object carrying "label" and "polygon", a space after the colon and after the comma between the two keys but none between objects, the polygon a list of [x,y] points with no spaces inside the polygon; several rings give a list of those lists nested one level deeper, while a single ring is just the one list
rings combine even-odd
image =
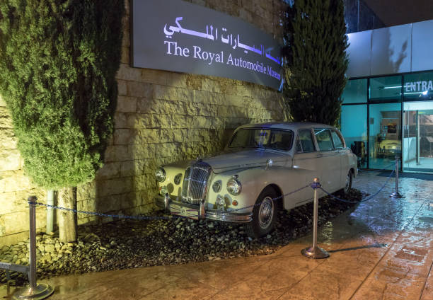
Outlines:
[{"label": "white vintage car parked on stones behind a rope barrier", "polygon": [[[156,170],[156,204],[192,219],[246,223],[252,237],[272,231],[278,209],[313,200],[296,189],[320,178],[328,192],[347,193],[357,157],[334,127],[315,123],[265,123],[238,127],[226,149]],[[323,195],[323,192],[321,192]]]}]

